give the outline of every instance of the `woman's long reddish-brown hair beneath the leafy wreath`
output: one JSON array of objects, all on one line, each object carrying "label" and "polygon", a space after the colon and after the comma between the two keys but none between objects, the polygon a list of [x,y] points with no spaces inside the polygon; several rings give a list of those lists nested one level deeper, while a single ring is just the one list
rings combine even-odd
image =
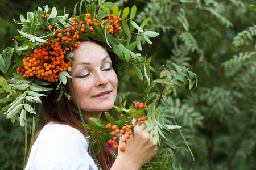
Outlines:
[{"label": "woman's long reddish-brown hair beneath the leafy wreath", "polygon": [[[93,40],[92,40],[93,41]],[[93,41],[96,44],[102,46],[109,54],[113,69],[115,73],[117,73],[117,56],[113,52],[112,48],[106,45],[101,41]],[[77,47],[79,48],[79,47]],[[56,102],[60,95],[60,90],[53,91],[47,97],[42,97],[42,104],[39,106],[40,117],[43,120],[43,126],[48,124],[48,122],[53,121],[57,124],[65,124],[69,125],[77,130],[79,130],[85,137],[85,129],[82,126],[81,117],[79,111],[77,109],[77,105],[73,104],[72,101],[68,100],[64,95],[61,97],[59,101]],[[74,99],[73,99],[74,100]],[[88,118],[84,117],[85,124],[91,124],[92,121],[88,120]],[[36,132],[35,139],[38,137],[40,131],[43,126]],[[95,133],[92,130],[88,129],[89,135]],[[97,141],[98,142],[98,141]],[[113,156],[109,150],[109,146],[104,143],[100,143],[101,151],[96,156],[98,163],[101,165],[102,169],[109,169],[112,166]],[[89,146],[90,153],[92,153],[92,148]],[[93,157],[93,156],[92,156]]]}]

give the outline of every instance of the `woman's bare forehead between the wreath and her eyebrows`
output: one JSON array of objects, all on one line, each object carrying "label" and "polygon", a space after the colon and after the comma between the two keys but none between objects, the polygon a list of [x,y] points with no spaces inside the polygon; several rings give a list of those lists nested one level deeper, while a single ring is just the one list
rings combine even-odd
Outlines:
[{"label": "woman's bare forehead between the wreath and her eyebrows", "polygon": [[90,61],[101,59],[108,56],[108,52],[95,42],[82,41],[81,44],[73,50],[72,61],[77,63],[81,61]]}]

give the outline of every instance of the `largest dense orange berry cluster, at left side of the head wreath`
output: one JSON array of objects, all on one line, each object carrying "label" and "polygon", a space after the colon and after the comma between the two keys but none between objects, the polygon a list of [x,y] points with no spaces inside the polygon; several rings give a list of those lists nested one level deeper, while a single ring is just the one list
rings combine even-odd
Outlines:
[{"label": "largest dense orange berry cluster, at left side of the head wreath", "polygon": [[66,71],[71,62],[64,61],[67,53],[63,46],[58,42],[60,39],[49,40],[42,44],[42,48],[35,49],[34,53],[28,54],[22,60],[22,65],[17,69],[18,74],[24,77],[36,76],[48,82],[58,82],[60,71]]}]

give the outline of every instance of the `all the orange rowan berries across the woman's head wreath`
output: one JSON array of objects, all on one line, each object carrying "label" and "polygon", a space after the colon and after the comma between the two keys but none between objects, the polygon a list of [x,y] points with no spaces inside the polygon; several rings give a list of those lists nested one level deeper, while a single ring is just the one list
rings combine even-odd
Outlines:
[{"label": "all the orange rowan berries across the woman's head wreath", "polygon": [[[42,18],[45,16],[42,14]],[[119,22],[122,21],[122,18],[114,16],[113,14],[107,15],[107,19],[101,20],[101,27],[103,28],[104,22],[109,20],[111,23],[106,26],[107,32],[113,36],[113,33],[117,33],[121,30],[121,27],[118,27]],[[46,18],[49,18],[49,14],[46,14]],[[41,45],[41,48],[35,49],[34,53],[28,54],[27,58],[23,59],[22,65],[17,69],[18,74],[22,74],[24,77],[34,77],[36,76],[39,79],[47,80],[48,82],[58,82],[59,81],[59,72],[66,71],[71,62],[65,62],[64,57],[68,51],[72,51],[78,45],[80,45],[79,40],[79,31],[77,30],[78,24],[80,24],[80,31],[82,33],[87,33],[85,31],[84,24],[88,24],[90,32],[93,31],[92,25],[95,24],[98,28],[99,23],[94,18],[93,21],[90,19],[90,14],[85,15],[85,22],[77,23],[75,18],[72,18],[73,24],[61,30],[57,28],[57,37],[56,39],[49,40],[46,43]],[[52,25],[48,25],[48,29],[51,32],[55,32]],[[64,34],[64,35],[63,35]],[[94,33],[96,36],[96,33]],[[65,46],[69,50],[65,50]]]}]

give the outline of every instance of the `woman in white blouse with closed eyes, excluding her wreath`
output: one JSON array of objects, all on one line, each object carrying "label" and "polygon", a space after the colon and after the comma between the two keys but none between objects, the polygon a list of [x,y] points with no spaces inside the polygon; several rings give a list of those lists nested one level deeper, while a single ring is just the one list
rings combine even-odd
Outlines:
[{"label": "woman in white blouse with closed eyes, excluding her wreath", "polygon": [[[116,57],[112,49],[100,41],[82,41],[73,51],[72,82],[85,123],[89,117],[100,118],[113,107],[117,96]],[[71,100],[52,92],[42,104],[45,126],[38,132],[26,169],[97,169],[77,110],[71,80],[66,90]],[[93,131],[88,130],[89,134]],[[155,154],[146,125],[134,127],[134,135],[126,143],[125,152],[118,150],[112,163],[108,145],[101,143],[97,155],[101,169],[139,169]]]}]

